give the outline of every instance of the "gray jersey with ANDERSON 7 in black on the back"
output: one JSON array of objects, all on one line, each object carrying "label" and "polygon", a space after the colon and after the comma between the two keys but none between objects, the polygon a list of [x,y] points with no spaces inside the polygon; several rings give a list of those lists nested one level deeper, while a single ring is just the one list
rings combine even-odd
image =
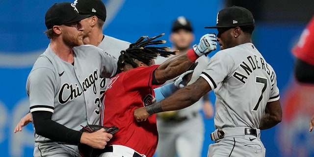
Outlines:
[{"label": "gray jersey with ANDERSON 7 in black on the back", "polygon": [[259,128],[267,102],[279,100],[276,74],[252,43],[217,52],[201,77],[216,95],[216,129]]}]

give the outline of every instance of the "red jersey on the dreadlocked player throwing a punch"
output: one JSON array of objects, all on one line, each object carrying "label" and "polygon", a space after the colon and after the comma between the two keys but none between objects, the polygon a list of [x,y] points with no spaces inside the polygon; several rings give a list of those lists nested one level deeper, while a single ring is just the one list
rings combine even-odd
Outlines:
[{"label": "red jersey on the dreadlocked player throwing a punch", "polygon": [[156,114],[136,122],[133,111],[152,105],[155,99],[153,72],[158,65],[138,67],[111,78],[102,106],[101,124],[117,126],[108,145],[123,145],[147,157],[153,157],[158,142]]}]

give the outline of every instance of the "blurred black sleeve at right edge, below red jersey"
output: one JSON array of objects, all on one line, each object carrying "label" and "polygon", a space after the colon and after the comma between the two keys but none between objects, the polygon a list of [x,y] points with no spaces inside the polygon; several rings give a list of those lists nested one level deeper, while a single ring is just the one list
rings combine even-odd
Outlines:
[{"label": "blurred black sleeve at right edge, below red jersey", "polygon": [[314,66],[296,58],[294,77],[302,83],[314,83]]}]

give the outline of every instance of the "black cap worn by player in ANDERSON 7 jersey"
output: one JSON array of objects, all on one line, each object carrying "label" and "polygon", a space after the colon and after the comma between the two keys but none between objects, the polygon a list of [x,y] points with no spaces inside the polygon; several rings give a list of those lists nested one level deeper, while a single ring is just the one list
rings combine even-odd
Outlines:
[{"label": "black cap worn by player in ANDERSON 7 jersey", "polygon": [[205,28],[223,28],[248,25],[254,25],[254,18],[251,11],[243,7],[231,6],[218,12],[216,26],[207,26]]}]

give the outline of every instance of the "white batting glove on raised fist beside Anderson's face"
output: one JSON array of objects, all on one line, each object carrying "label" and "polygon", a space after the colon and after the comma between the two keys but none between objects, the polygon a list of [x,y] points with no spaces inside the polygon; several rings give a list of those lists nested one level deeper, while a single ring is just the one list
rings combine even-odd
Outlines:
[{"label": "white batting glove on raised fist beside Anderson's face", "polygon": [[198,56],[206,55],[216,50],[217,48],[217,39],[216,33],[209,33],[202,36],[200,43],[198,45],[193,45],[193,50]]}]

